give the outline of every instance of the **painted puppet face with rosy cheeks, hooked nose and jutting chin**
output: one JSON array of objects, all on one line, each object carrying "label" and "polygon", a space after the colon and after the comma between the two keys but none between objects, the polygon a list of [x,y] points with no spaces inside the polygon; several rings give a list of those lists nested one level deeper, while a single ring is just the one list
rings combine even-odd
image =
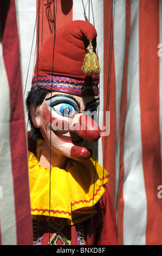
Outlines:
[{"label": "painted puppet face with rosy cheeks, hooked nose and jutting chin", "polygon": [[92,151],[83,147],[83,142],[96,142],[100,137],[93,119],[98,105],[98,96],[49,93],[35,110],[33,123],[55,153],[76,160],[89,159]]}]

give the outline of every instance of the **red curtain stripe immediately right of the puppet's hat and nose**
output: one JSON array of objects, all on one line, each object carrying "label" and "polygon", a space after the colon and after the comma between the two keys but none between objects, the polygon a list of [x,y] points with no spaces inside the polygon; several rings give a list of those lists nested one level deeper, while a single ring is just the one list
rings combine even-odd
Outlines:
[{"label": "red curtain stripe immediately right of the puppet's hat and nose", "polygon": [[[102,137],[103,168],[109,173],[108,187],[115,196],[116,89],[113,45],[112,0],[103,1],[103,113],[110,111],[110,135]],[[111,52],[110,52],[111,51]],[[103,114],[104,126],[105,116]]]}]

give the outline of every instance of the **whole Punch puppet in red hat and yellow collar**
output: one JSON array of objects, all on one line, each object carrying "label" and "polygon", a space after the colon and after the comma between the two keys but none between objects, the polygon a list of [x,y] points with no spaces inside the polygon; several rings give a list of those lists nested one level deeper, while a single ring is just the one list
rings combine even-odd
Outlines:
[{"label": "whole Punch puppet in red hat and yellow collar", "polygon": [[[109,174],[84,142],[96,142],[100,66],[96,30],[72,21],[44,42],[26,104],[34,245],[116,245]],[[34,142],[35,141],[35,142]]]}]

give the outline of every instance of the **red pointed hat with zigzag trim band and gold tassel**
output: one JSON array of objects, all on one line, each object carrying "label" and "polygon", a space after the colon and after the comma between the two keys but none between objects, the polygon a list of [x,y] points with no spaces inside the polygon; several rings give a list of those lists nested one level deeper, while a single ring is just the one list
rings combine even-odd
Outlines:
[{"label": "red pointed hat with zigzag trim band and gold tassel", "polygon": [[38,54],[31,89],[98,95],[100,66],[95,53],[96,36],[94,26],[81,20],[51,34]]}]

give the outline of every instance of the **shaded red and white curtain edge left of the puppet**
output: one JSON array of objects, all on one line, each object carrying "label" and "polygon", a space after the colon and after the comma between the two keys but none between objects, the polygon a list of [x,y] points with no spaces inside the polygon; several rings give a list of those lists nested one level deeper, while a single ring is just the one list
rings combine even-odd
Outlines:
[{"label": "shaded red and white curtain edge left of the puppet", "polygon": [[0,2],[0,245],[32,245],[28,155],[15,1]]}]

